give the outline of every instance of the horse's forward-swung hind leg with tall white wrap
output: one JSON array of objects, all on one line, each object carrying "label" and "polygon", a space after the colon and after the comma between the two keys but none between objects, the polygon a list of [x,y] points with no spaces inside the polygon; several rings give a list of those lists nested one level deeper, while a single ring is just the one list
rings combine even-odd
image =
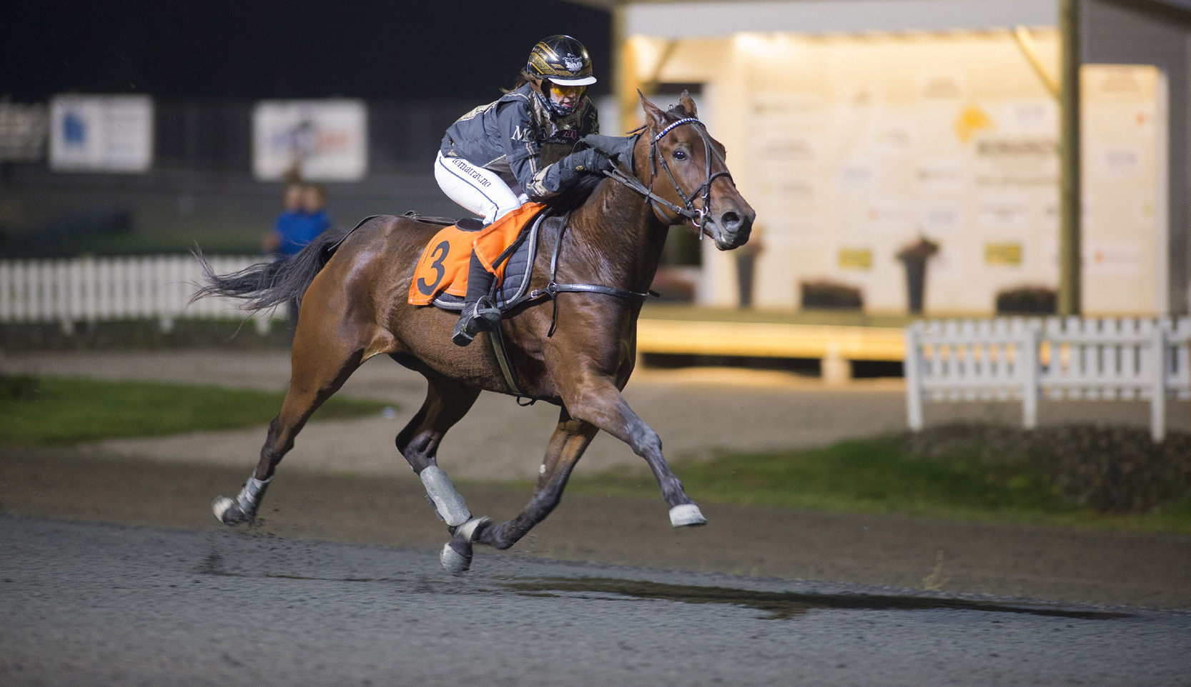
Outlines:
[{"label": "horse's forward-swung hind leg with tall white wrap", "polygon": [[450,380],[430,369],[420,369],[429,383],[426,400],[413,419],[397,435],[397,450],[422,479],[431,505],[449,526],[459,526],[472,517],[463,496],[447,473],[438,467],[438,444],[443,435],[472,410],[480,389]]}]

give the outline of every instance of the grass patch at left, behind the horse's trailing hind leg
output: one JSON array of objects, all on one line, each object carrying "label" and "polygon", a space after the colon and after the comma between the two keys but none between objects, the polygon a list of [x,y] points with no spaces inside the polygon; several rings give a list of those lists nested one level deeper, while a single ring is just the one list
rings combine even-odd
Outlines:
[{"label": "grass patch at left, behind the horse's trailing hind leg", "polygon": [[[0,444],[68,445],[268,424],[285,394],[164,382],[69,377],[8,379],[0,394]],[[380,413],[386,404],[331,398],[312,420]]]}]

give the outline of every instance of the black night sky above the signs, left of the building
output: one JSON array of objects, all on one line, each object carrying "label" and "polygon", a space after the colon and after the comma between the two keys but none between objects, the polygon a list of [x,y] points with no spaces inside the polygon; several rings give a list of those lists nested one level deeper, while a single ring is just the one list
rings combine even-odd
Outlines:
[{"label": "black night sky above the signs, left of the building", "polygon": [[581,40],[611,83],[607,12],[559,0],[7,0],[0,98],[467,98],[512,86],[534,44]]}]

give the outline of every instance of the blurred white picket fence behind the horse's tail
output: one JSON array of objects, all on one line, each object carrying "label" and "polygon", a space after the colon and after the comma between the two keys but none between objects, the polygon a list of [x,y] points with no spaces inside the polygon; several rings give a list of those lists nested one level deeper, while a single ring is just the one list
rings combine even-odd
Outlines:
[{"label": "blurred white picket fence behind the horse's tail", "polygon": [[[211,256],[217,274],[243,269],[260,256]],[[0,324],[60,323],[67,333],[75,323],[156,319],[169,331],[175,319],[243,319],[238,301],[205,298],[189,302],[202,270],[189,255],[144,257],[77,257],[0,261]],[[268,331],[281,312],[252,314]]]}]

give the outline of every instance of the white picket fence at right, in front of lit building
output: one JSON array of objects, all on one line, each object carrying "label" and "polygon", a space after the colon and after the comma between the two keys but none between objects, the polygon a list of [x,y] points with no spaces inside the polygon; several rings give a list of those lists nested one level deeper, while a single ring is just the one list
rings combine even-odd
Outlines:
[{"label": "white picket fence at right, in front of lit building", "polygon": [[1154,441],[1166,398],[1191,398],[1191,319],[997,318],[918,321],[905,330],[906,416],[922,429],[923,400],[1148,399]]}]

